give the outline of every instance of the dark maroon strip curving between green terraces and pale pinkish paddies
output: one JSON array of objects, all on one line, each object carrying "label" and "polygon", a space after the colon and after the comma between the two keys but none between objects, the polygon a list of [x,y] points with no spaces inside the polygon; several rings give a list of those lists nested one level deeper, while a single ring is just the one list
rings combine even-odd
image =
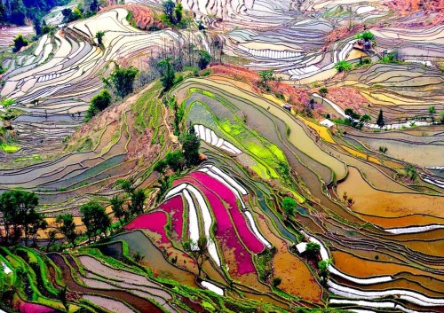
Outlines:
[{"label": "dark maroon strip curving between green terraces and pale pinkish paddies", "polygon": [[[59,266],[60,270],[62,271],[63,278],[65,279],[65,282],[67,284],[67,288],[71,291],[75,291],[77,293],[93,293],[93,294],[99,294],[104,295],[112,299],[116,299],[119,301],[123,301],[124,303],[128,303],[133,307],[134,309],[138,309],[142,313],[163,313],[162,309],[159,309],[157,306],[155,306],[154,303],[151,301],[147,301],[146,299],[140,298],[139,296],[136,296],[131,293],[126,293],[123,291],[117,291],[117,290],[102,290],[102,289],[96,289],[96,288],[89,288],[85,286],[81,286],[77,284],[77,282],[72,278],[71,276],[71,269],[68,267],[67,263],[63,259],[63,257],[59,254],[49,254],[48,255],[53,262]],[[69,257],[69,256],[68,256]],[[71,260],[70,265],[74,268],[75,273],[78,273],[78,268],[74,262],[74,260]]]}]

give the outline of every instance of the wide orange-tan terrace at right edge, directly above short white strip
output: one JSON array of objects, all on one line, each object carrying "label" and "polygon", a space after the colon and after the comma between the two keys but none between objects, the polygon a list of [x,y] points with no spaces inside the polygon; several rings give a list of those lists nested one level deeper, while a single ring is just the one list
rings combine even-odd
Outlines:
[{"label": "wide orange-tan terrace at right edge, directly above short white strip", "polygon": [[[444,197],[420,193],[392,193],[377,191],[367,184],[356,168],[349,168],[349,176],[338,184],[337,193],[347,192],[355,201],[352,210],[365,215],[399,217],[405,215],[432,215],[444,218]],[[416,224],[423,224],[416,218]]]}]

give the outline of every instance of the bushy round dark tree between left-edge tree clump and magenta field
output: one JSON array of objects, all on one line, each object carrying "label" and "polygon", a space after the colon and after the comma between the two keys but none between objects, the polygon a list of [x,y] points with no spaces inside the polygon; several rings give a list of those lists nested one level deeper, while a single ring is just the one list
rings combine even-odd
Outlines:
[{"label": "bushy round dark tree between left-edge tree clump and magenta field", "polygon": [[80,212],[83,214],[82,222],[86,227],[88,242],[91,242],[91,238],[95,238],[97,235],[106,234],[107,228],[111,225],[111,219],[107,215],[105,207],[91,200],[80,207]]}]

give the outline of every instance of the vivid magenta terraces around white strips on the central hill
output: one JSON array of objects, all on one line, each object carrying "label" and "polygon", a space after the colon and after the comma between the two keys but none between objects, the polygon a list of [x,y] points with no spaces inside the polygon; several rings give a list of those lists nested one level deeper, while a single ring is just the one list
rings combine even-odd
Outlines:
[{"label": "vivid magenta terraces around white strips on the central hill", "polygon": [[[246,216],[241,208],[234,192],[217,179],[202,172],[194,172],[177,179],[173,186],[178,184],[193,185],[207,202],[207,206],[215,219],[215,239],[222,251],[233,253],[234,257],[226,257],[226,264],[238,275],[254,273],[256,269],[251,259],[251,254],[258,254],[264,250],[264,244],[250,230]],[[196,201],[197,202],[197,201]],[[197,203],[196,210],[200,210]],[[159,246],[170,246],[170,234],[165,231],[170,215],[171,232],[176,234],[171,239],[181,239],[184,231],[184,199],[181,194],[173,196],[155,209],[155,212],[139,215],[129,223],[126,230],[149,230],[159,235]],[[187,206],[186,206],[187,207]],[[171,235],[173,236],[173,235]],[[226,255],[227,256],[227,255]]]}]

